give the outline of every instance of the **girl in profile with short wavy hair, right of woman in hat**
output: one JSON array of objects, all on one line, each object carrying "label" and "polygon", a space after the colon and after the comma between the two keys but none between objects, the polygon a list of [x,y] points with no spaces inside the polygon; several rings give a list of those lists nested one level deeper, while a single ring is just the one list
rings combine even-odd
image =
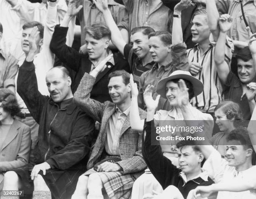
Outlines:
[{"label": "girl in profile with short wavy hair, right of woman in hat", "polygon": [[219,133],[212,136],[209,140],[222,157],[226,153],[226,138],[230,131],[240,126],[243,120],[241,108],[238,103],[233,101],[220,102],[214,109],[216,124],[219,126]]}]

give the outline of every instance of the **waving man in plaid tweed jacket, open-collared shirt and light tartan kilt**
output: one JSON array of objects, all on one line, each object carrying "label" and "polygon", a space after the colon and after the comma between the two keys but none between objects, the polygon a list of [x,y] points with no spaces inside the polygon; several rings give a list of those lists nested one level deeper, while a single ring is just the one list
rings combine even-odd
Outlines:
[{"label": "waving man in plaid tweed jacket, open-collared shirt and light tartan kilt", "polygon": [[[125,71],[115,71],[109,75],[108,90],[113,103],[100,103],[90,98],[90,92],[97,75],[106,68],[105,63],[111,57],[105,58],[90,75],[85,73],[74,94],[74,101],[87,114],[101,123],[90,159],[89,169],[79,177],[76,191],[72,198],[103,199],[102,188],[110,198],[129,198],[133,182],[143,173],[146,163],[141,153],[142,136],[131,130],[130,106],[131,87],[130,75]],[[146,112],[139,110],[141,119],[146,118]],[[93,169],[96,163],[106,157],[118,156],[116,163],[103,162]],[[88,195],[88,196],[87,196]]]}]

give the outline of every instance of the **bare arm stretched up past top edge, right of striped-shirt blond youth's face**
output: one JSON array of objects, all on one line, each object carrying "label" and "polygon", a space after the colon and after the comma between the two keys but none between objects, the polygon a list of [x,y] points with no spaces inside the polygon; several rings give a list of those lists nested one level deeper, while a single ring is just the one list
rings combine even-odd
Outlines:
[{"label": "bare arm stretched up past top edge, right of striped-shirt blond youth's face", "polygon": [[213,39],[218,40],[220,29],[218,27],[219,13],[214,0],[205,0],[207,10],[207,20]]}]

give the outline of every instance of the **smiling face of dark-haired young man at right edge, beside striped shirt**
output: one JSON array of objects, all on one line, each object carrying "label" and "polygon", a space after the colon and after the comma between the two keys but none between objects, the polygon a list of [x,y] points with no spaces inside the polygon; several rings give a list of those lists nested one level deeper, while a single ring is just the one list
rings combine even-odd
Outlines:
[{"label": "smiling face of dark-haired young man at right edge, beside striped shirt", "polygon": [[237,72],[240,81],[244,84],[251,83],[256,77],[256,71],[253,65],[253,60],[243,61],[237,60]]}]

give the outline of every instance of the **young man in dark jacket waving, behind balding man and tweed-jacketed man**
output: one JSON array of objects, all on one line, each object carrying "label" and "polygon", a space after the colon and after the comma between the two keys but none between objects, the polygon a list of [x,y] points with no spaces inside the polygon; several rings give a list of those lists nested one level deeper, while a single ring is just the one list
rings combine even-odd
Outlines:
[{"label": "young man in dark jacket waving, behind balding man and tweed-jacketed man", "polygon": [[[109,28],[103,23],[97,23],[87,27],[85,41],[87,43],[88,54],[83,55],[74,48],[68,47],[66,42],[67,26],[70,20],[79,12],[81,6],[75,8],[74,0],[68,5],[69,9],[61,25],[56,25],[51,40],[51,51],[66,65],[76,72],[72,85],[73,93],[85,72],[90,73],[100,61],[110,55],[112,52],[108,49],[111,33]],[[92,88],[91,97],[100,102],[110,101],[108,94],[108,75],[115,70],[130,71],[128,62],[119,53],[106,63],[108,67],[97,76],[95,85]]]}]

